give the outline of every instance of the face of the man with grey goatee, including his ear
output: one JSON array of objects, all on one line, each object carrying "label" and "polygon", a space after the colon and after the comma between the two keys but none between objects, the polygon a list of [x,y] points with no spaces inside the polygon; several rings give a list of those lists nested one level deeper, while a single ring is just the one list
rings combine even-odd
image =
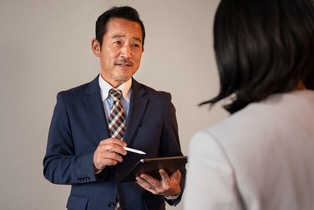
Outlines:
[{"label": "face of the man with grey goatee, including his ear", "polygon": [[97,40],[92,40],[94,54],[100,58],[102,78],[113,87],[130,79],[137,71],[144,51],[140,25],[112,18],[107,23],[101,48],[97,43]]}]

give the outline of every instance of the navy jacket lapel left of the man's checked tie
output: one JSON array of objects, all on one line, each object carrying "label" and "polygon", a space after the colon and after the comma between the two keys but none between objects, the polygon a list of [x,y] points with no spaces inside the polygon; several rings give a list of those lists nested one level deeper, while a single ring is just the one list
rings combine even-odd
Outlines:
[{"label": "navy jacket lapel left of the man's checked tie", "polygon": [[108,123],[106,121],[106,115],[103,108],[100,87],[98,83],[98,76],[88,84],[85,93],[89,96],[84,99],[86,109],[89,117],[91,118],[100,140],[107,139],[110,137],[108,131]]}]

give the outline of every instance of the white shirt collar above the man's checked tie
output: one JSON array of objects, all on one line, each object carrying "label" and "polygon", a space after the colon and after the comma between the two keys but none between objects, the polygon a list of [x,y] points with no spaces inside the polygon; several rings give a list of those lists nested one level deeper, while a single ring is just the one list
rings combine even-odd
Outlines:
[{"label": "white shirt collar above the man's checked tie", "polygon": [[[102,101],[104,101],[108,97],[109,90],[114,87],[112,87],[106,80],[104,80],[101,77],[101,74],[99,74],[98,82],[99,82],[99,86],[101,90],[100,91],[101,99]],[[131,91],[130,91],[131,85],[132,85],[132,78],[130,78],[129,80],[127,80],[126,82],[122,83],[120,86],[114,89],[120,89],[122,91],[122,97],[127,102],[129,102],[130,94],[131,94]]]}]

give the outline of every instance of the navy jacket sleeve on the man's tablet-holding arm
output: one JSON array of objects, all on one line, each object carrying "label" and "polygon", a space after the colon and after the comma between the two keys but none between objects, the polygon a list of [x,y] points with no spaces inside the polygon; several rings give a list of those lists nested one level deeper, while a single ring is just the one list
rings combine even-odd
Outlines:
[{"label": "navy jacket sleeve on the man's tablet-holding arm", "polygon": [[[174,104],[171,102],[171,94],[167,93],[167,103],[164,113],[164,123],[161,136],[161,146],[160,146],[160,157],[169,157],[169,156],[183,156],[181,152],[179,134],[178,134],[178,123],[176,117],[176,109]],[[182,194],[185,188],[185,178],[186,178],[186,167],[180,169],[181,172],[181,190],[182,193],[175,200],[168,200],[164,196],[163,198],[170,205],[177,205],[182,198]]]}]

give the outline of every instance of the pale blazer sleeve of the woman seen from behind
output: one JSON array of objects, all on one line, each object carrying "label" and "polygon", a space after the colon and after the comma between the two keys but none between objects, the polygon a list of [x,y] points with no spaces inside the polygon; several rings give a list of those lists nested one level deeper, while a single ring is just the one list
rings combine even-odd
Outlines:
[{"label": "pale blazer sleeve of the woman seen from behind", "polygon": [[242,209],[227,154],[212,135],[199,132],[189,146],[185,209]]}]

